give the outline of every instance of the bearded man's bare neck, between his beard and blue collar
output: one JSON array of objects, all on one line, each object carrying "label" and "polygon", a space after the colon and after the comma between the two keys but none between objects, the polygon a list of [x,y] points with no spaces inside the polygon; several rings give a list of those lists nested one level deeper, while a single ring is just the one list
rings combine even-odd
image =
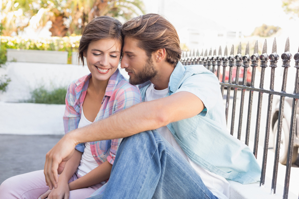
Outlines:
[{"label": "bearded man's bare neck, between his beard and blue collar", "polygon": [[174,70],[174,66],[169,63],[163,64],[158,68],[157,75],[150,80],[156,90],[168,88],[170,76]]}]

